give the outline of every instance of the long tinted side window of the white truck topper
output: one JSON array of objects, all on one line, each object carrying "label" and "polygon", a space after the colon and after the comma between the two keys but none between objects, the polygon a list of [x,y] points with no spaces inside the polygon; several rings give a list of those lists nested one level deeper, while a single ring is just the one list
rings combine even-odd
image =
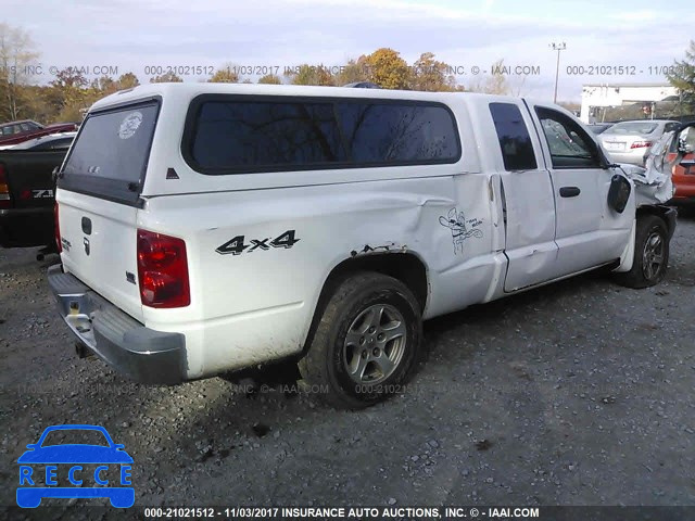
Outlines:
[{"label": "long tinted side window of the white truck topper", "polygon": [[460,144],[443,105],[376,100],[193,102],[184,155],[203,174],[455,163]]}]

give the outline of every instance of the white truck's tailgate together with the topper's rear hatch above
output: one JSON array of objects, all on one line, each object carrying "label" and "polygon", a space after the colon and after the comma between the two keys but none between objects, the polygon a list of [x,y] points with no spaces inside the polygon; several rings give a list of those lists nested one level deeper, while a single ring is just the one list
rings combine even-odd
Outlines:
[{"label": "white truck's tailgate together with the topper's rear hatch above", "polygon": [[140,321],[137,217],[157,113],[154,100],[90,113],[56,194],[65,271]]}]

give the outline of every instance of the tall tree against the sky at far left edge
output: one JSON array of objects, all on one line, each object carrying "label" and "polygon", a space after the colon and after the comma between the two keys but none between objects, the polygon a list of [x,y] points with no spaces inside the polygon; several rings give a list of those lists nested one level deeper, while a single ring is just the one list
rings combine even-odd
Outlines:
[{"label": "tall tree against the sky at far left edge", "polygon": [[29,82],[38,52],[27,31],[0,24],[0,93],[5,101],[2,114],[17,119],[22,112],[21,87]]}]

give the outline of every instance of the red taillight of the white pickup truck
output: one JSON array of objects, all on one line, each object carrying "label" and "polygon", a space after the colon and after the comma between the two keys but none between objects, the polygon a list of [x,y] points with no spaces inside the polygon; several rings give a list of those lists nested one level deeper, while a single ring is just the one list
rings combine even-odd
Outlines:
[{"label": "red taillight of the white pickup truck", "polygon": [[150,307],[185,307],[191,303],[186,242],[138,229],[140,301]]}]

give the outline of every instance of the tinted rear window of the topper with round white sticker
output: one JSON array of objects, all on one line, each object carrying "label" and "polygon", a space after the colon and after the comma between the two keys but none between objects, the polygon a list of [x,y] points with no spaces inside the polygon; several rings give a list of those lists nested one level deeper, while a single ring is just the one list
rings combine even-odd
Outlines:
[{"label": "tinted rear window of the topper with round white sticker", "polygon": [[63,173],[140,183],[156,115],[154,102],[90,115]]}]

